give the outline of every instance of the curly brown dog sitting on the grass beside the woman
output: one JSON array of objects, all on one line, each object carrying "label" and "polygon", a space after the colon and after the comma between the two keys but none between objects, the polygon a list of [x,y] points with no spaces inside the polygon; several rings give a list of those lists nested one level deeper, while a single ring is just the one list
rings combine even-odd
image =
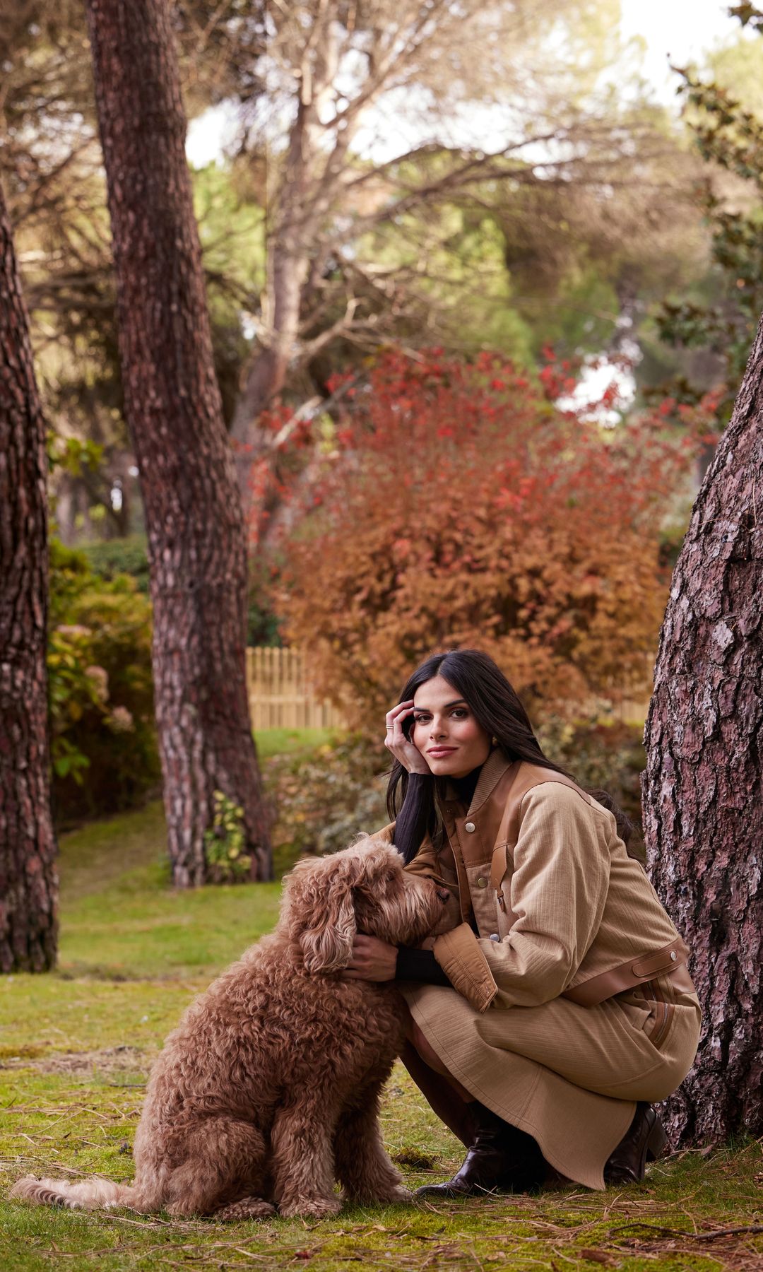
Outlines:
[{"label": "curly brown dog sitting on the grass beside the woman", "polygon": [[278,925],[186,1011],[149,1079],[135,1182],[20,1179],[13,1197],[251,1219],[408,1196],[382,1146],[379,1093],[403,1043],[393,985],[343,979],[357,929],[415,945],[448,893],[365,838],[300,861]]}]

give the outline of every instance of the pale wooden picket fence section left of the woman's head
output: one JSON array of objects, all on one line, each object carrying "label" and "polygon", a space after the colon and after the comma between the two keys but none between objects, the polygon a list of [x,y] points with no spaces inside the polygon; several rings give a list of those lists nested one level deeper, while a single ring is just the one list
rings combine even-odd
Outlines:
[{"label": "pale wooden picket fence section left of the woman's head", "polygon": [[337,709],[313,693],[303,650],[268,645],[248,649],[247,691],[254,733],[345,728]]}]

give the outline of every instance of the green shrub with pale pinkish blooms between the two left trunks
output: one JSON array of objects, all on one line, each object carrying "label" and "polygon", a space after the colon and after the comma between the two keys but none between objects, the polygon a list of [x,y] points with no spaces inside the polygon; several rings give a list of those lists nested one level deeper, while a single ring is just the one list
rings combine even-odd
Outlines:
[{"label": "green shrub with pale pinkish blooms between the two left trunks", "polygon": [[159,782],[151,607],[56,541],[47,664],[57,823],[135,806]]}]

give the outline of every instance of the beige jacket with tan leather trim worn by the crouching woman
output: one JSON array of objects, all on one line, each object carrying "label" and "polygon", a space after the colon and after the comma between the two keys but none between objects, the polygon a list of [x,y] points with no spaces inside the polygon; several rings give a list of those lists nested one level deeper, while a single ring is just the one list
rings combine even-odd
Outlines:
[{"label": "beige jacket with tan leather trim worn by the crouching woman", "polygon": [[[434,953],[478,1011],[560,995],[593,1005],[685,963],[613,814],[570,778],[495,750],[468,812],[451,798],[443,814],[446,846],[425,840],[408,869],[454,894]],[[392,841],[394,823],[380,833]]]}]

